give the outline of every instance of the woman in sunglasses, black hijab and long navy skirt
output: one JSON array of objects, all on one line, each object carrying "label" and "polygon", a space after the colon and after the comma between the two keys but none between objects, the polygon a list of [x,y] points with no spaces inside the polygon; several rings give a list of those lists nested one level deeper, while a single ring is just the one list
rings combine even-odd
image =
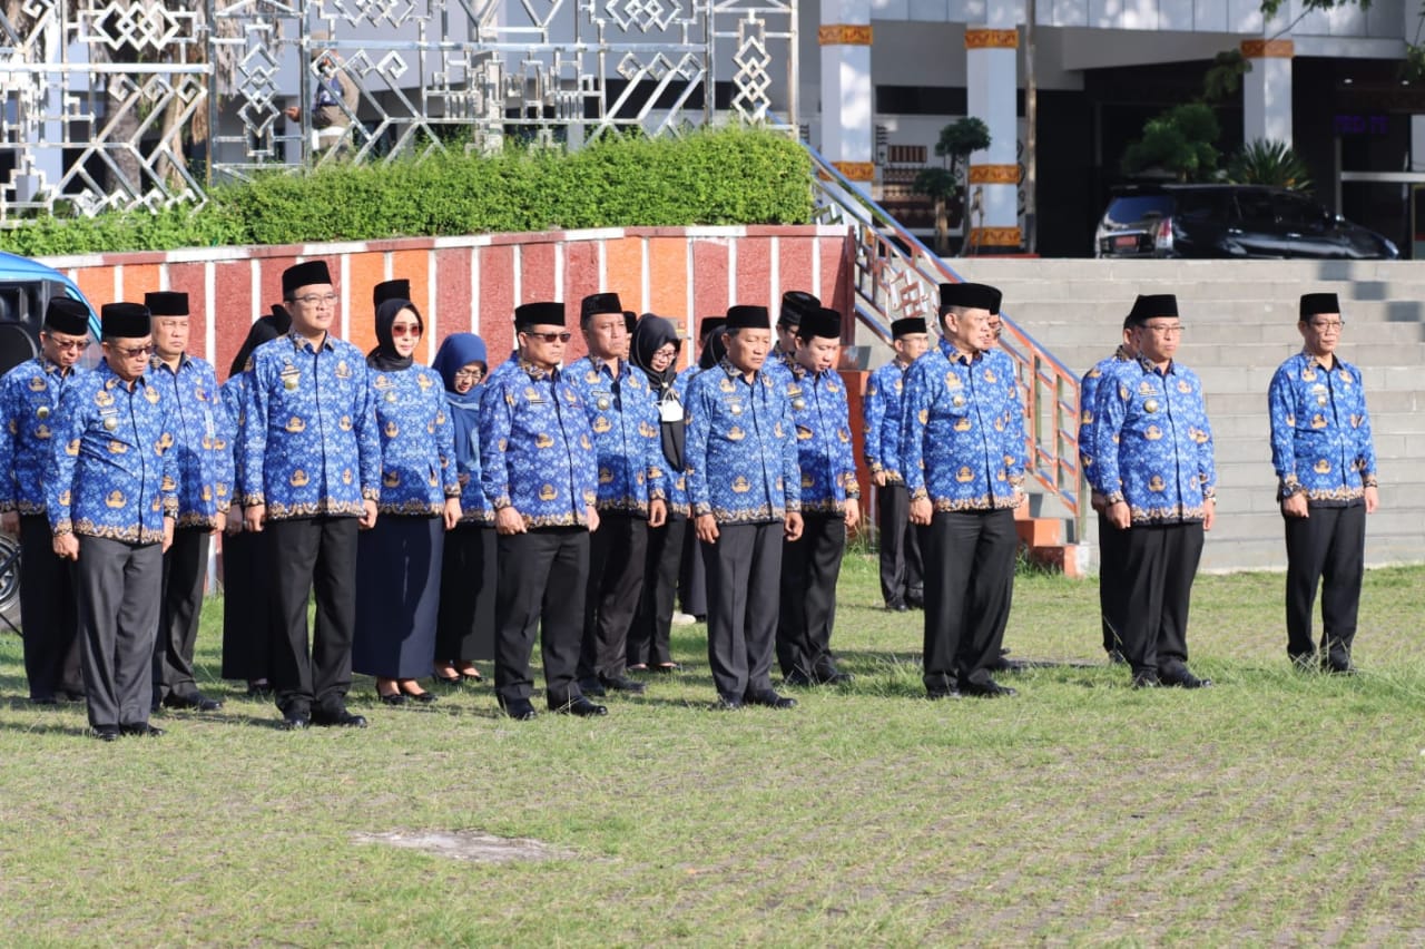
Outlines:
[{"label": "woman in sunglasses, black hijab and long navy skirt", "polygon": [[376,677],[388,705],[436,697],[416,680],[436,653],[445,531],[460,520],[455,426],[440,376],[413,353],[425,323],[409,299],[376,308],[376,348],[366,358],[380,430],[376,526],[356,541],[352,671]]}]

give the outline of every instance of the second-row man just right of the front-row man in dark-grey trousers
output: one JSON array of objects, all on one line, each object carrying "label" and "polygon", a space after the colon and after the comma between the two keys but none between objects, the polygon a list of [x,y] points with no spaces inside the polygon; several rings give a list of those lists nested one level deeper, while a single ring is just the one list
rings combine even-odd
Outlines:
[{"label": "second-row man just right of the front-row man in dark-grey trousers", "polygon": [[789,685],[849,683],[831,633],[846,531],[861,520],[846,383],[836,372],[841,313],[817,309],[797,326],[797,349],[777,376],[791,405],[801,467],[802,533],[782,547],[777,658]]}]

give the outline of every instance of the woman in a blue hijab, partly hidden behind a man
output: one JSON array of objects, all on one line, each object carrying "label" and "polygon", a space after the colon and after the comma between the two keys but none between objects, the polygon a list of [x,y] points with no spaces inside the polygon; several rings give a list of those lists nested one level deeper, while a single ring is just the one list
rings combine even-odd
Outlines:
[{"label": "woman in a blue hijab, partly hidden behind a man", "polygon": [[484,341],[452,333],[430,366],[445,380],[455,425],[460,523],[446,534],[440,567],[435,677],[445,685],[480,681],[475,660],[494,657],[494,512],[480,490],[480,380],[489,372]]}]

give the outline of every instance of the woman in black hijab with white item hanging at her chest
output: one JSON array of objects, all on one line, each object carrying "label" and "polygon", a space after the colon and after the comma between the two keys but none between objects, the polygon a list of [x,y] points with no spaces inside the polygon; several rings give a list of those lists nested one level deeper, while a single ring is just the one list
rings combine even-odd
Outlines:
[{"label": "woman in black hijab with white item hanging at her chest", "polygon": [[668,519],[660,527],[648,527],[648,553],[643,596],[638,613],[628,628],[628,668],[671,673],[670,633],[673,626],[673,597],[678,586],[683,563],[683,537],[688,526],[688,493],[684,476],[683,443],[687,418],[683,396],[687,378],[678,375],[678,329],[671,321],[644,313],[634,326],[628,343],[633,365],[648,378],[648,389],[658,402],[658,435],[663,457],[668,463]]}]

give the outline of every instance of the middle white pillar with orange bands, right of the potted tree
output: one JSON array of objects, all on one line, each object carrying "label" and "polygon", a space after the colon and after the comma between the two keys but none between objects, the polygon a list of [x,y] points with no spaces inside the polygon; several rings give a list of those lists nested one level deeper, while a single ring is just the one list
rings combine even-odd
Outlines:
[{"label": "middle white pillar with orange bands, right of the potted tree", "polygon": [[[1019,249],[1019,31],[1012,3],[988,4],[990,23],[965,28],[969,114],[989,125],[990,145],[970,155],[965,197],[969,249]],[[982,214],[975,212],[979,191]]]}]

